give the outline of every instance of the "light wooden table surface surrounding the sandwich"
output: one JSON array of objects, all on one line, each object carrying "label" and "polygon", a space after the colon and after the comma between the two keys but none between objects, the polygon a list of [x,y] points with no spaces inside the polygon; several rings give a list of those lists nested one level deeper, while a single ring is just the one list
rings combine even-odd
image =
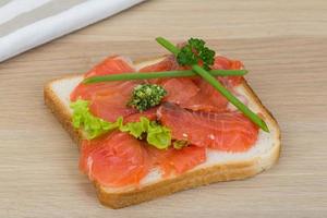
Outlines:
[{"label": "light wooden table surface surrounding the sandwich", "polygon": [[[0,63],[0,217],[327,217],[327,1],[153,0]],[[279,162],[112,210],[77,170],[43,86],[101,58],[164,53],[154,37],[208,39],[241,59],[282,130]]]}]

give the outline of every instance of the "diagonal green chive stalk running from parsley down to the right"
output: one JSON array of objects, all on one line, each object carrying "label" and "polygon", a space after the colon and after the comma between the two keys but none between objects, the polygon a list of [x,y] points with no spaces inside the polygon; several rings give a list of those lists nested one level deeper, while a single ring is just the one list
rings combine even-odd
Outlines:
[{"label": "diagonal green chive stalk running from parsley down to the right", "polygon": [[[179,49],[162,37],[156,38],[158,44],[164,46],[167,50],[172,52],[174,56],[179,53]],[[240,111],[244,113],[252,122],[258,125],[265,132],[269,132],[269,129],[264,120],[262,120],[256,113],[250,110],[242,101],[240,101],[233,94],[231,94],[219,81],[217,81],[211,74],[204,70],[198,64],[193,64],[192,70],[201,75],[205,81],[213,85],[221,95],[223,95],[232,105],[234,105]]]}]

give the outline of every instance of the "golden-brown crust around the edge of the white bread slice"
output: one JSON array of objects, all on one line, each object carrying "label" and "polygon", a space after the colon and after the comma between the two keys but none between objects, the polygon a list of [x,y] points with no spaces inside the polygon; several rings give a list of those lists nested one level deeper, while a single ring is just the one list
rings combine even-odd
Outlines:
[{"label": "golden-brown crust around the edge of the white bread slice", "polygon": [[[73,76],[76,75],[70,75],[64,78],[71,78]],[[70,112],[66,111],[64,106],[61,104],[61,100],[51,89],[52,83],[59,80],[55,80],[45,86],[45,102],[58,118],[62,126],[69,132],[69,134],[80,148],[81,142],[83,140],[83,133],[82,131],[75,130],[73,128]],[[95,182],[94,184],[100,203],[111,208],[122,208],[201,185],[207,185],[210,183],[222,181],[243,180],[270,168],[278,160],[280,153],[281,141],[278,123],[272,114],[265,108],[265,106],[263,106],[259,98],[255,95],[245,80],[241,85],[245,88],[249,96],[251,96],[253,100],[255,100],[255,102],[261,107],[265,120],[267,122],[270,122],[277,131],[276,144],[265,155],[264,158],[255,157],[246,161],[229,161],[223,165],[216,165],[208,168],[191,170],[181,175],[166,179],[160,182],[143,186],[141,189],[121,192],[108,192],[105,186],[101,186],[100,184]]]}]

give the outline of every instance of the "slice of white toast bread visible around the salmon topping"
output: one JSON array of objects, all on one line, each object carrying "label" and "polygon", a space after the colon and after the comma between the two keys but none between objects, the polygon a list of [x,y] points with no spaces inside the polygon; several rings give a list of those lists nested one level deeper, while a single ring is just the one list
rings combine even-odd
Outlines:
[{"label": "slice of white toast bread visible around the salmon topping", "polygon": [[[134,64],[140,69],[144,65],[156,63],[161,59],[156,58],[135,62]],[[71,92],[82,80],[82,75],[72,75],[55,80],[45,86],[46,105],[78,146],[85,137],[82,131],[72,126],[72,111],[69,104]],[[279,126],[246,81],[235,87],[235,89],[240,95],[247,98],[249,107],[253,111],[259,112],[264,117],[270,130],[270,133],[259,131],[258,140],[250,150],[244,153],[226,153],[208,149],[207,160],[194,169],[180,175],[162,179],[160,169],[155,168],[141,181],[137,187],[110,187],[95,183],[99,201],[112,208],[121,208],[199,185],[242,180],[270,168],[279,157]]]}]

